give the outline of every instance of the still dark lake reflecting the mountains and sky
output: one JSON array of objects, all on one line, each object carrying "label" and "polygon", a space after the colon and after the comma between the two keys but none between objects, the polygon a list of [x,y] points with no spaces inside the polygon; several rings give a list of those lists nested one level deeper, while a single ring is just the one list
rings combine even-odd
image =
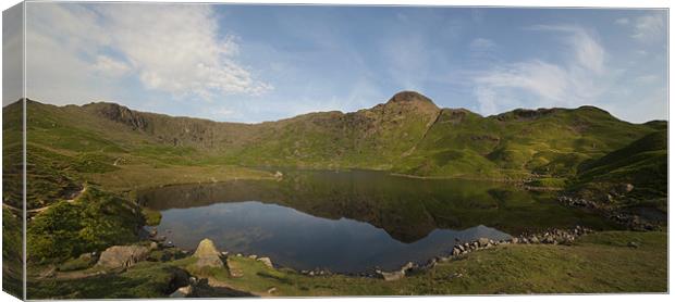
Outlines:
[{"label": "still dark lake reflecting the mountains and sky", "polygon": [[415,179],[371,171],[284,171],[281,180],[181,185],[139,192],[161,211],[158,232],[192,250],[204,238],[231,253],[295,269],[395,269],[447,254],[456,241],[609,222],[551,193],[513,185]]}]

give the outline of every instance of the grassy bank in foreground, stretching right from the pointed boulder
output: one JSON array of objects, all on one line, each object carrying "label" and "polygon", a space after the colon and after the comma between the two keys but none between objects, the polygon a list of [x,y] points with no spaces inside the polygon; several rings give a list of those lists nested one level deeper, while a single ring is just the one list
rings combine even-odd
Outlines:
[{"label": "grassy bank in foreground, stretching right from the pointed boulder", "polygon": [[[628,247],[628,242],[639,248]],[[667,249],[663,232],[599,232],[574,246],[504,246],[441,263],[397,281],[330,276],[308,277],[233,257],[242,278],[211,274],[238,290],[274,295],[491,294],[554,292],[664,292]]]}]

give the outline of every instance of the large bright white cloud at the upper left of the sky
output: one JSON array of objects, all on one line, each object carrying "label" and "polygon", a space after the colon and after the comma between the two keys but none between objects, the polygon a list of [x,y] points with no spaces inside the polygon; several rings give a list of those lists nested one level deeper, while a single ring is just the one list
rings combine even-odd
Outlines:
[{"label": "large bright white cloud at the upper left of the sky", "polygon": [[[74,67],[81,74],[96,73],[99,81],[136,75],[146,89],[179,98],[210,100],[272,89],[237,62],[237,40],[222,35],[209,5],[30,3],[28,8],[28,48],[49,46],[35,49],[35,54],[64,50],[61,62],[33,68],[33,75],[44,80],[34,83],[33,91],[46,90],[50,78],[63,77],[64,68]],[[99,97],[96,90],[89,92],[88,98]]]}]

